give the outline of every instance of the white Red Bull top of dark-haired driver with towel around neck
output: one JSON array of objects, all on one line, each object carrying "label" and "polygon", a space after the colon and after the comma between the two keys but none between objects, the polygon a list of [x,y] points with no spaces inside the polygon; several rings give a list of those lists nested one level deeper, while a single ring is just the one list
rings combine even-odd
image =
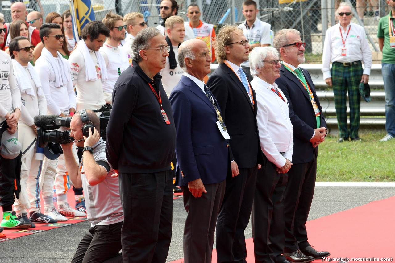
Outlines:
[{"label": "white Red Bull top of dark-haired driver with towel around neck", "polygon": [[93,50],[88,49],[90,57],[95,65],[97,73],[96,81],[86,81],[85,79],[85,60],[83,54],[75,49],[69,57],[71,66],[71,81],[75,85],[77,92],[77,108],[76,111],[81,109],[96,110],[100,109],[105,104],[102,85],[102,71],[99,67],[98,59]]}]

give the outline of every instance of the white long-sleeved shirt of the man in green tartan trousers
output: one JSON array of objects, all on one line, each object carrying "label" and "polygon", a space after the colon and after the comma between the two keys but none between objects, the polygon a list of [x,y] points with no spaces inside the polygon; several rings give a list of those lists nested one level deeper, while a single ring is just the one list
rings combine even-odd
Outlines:
[{"label": "white long-sleeved shirt of the man in green tartan trousers", "polygon": [[[339,29],[342,30],[343,34],[344,48],[346,49],[345,56],[341,54],[343,41]],[[349,29],[350,32],[347,36]],[[329,69],[330,62],[354,62],[359,60],[363,61],[363,65],[365,66],[363,74],[370,75],[372,52],[363,26],[350,22],[346,27],[346,31],[344,31],[340,23],[337,23],[326,30],[324,51],[322,53],[322,73],[324,73],[324,79],[331,77],[331,70]]]}]

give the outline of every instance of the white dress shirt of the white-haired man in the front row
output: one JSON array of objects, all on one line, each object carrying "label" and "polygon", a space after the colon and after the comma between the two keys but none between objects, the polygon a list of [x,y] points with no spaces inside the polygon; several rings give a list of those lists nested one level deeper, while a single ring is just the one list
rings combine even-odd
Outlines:
[{"label": "white dress shirt of the white-haired man in the front row", "polygon": [[[293,153],[293,130],[288,100],[276,83],[271,85],[256,76],[251,85],[254,87],[258,105],[256,120],[261,149],[267,160],[281,168],[286,163],[285,159],[292,161]],[[285,101],[272,88],[277,88]]]}]

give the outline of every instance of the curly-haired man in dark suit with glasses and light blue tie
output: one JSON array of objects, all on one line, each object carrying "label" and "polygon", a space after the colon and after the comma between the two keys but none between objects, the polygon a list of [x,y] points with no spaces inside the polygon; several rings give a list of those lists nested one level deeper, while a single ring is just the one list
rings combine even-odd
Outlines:
[{"label": "curly-haired man in dark suit with glasses and light blue tie", "polygon": [[[244,230],[250,220],[258,164],[263,163],[256,122],[255,92],[240,64],[248,60],[249,41],[233,25],[221,28],[214,41],[220,63],[207,86],[221,108],[234,160],[216,227],[218,263],[246,262]],[[218,52],[218,53],[217,53]]]}]

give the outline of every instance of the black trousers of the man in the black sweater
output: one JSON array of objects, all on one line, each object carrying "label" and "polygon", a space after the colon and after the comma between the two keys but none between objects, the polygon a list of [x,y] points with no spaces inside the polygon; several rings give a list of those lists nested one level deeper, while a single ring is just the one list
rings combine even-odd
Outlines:
[{"label": "black trousers of the man in the black sweater", "polygon": [[173,176],[120,173],[119,193],[124,211],[123,262],[165,263],[173,222]]}]

